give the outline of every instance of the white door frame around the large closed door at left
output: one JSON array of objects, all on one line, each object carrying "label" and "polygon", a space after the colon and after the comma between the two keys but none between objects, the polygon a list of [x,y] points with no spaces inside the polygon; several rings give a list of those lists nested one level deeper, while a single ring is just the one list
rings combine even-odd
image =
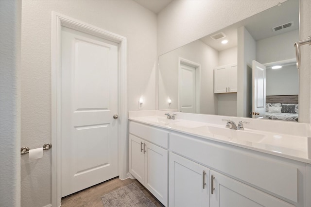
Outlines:
[{"label": "white door frame around the large closed door at left", "polygon": [[52,11],[52,46],[51,46],[51,118],[52,118],[52,206],[61,205],[61,42],[62,26],[89,35],[101,37],[119,43],[119,177],[128,177],[127,166],[127,97],[126,97],[126,37],[117,35],[80,20]]}]

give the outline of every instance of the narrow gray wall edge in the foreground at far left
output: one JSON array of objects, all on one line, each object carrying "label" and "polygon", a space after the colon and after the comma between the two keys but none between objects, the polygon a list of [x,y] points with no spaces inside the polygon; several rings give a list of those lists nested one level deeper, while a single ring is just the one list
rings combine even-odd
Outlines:
[{"label": "narrow gray wall edge in the foreground at far left", "polygon": [[0,0],[0,206],[20,206],[21,2]]}]

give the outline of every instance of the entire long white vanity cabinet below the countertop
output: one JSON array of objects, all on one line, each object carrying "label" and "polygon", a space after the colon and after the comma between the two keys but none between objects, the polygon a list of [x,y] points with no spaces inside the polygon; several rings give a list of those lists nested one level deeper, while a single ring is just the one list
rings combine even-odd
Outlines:
[{"label": "entire long white vanity cabinet below the countertop", "polygon": [[165,206],[310,206],[310,164],[135,121],[129,138],[130,173]]}]

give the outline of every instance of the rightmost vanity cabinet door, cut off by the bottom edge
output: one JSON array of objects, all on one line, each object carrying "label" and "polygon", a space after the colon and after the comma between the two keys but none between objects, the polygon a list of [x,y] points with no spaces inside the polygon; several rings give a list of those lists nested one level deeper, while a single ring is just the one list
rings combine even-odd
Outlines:
[{"label": "rightmost vanity cabinet door, cut off by the bottom edge", "polygon": [[[212,179],[214,177],[214,179]],[[221,173],[210,171],[210,207],[294,207]]]}]

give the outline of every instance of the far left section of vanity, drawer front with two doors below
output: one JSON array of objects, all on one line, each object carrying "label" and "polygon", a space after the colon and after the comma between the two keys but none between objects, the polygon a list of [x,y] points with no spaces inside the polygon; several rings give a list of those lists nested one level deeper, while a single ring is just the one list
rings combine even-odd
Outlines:
[{"label": "far left section of vanity, drawer front with two doors below", "polygon": [[167,206],[168,132],[130,122],[129,138],[130,173]]}]

